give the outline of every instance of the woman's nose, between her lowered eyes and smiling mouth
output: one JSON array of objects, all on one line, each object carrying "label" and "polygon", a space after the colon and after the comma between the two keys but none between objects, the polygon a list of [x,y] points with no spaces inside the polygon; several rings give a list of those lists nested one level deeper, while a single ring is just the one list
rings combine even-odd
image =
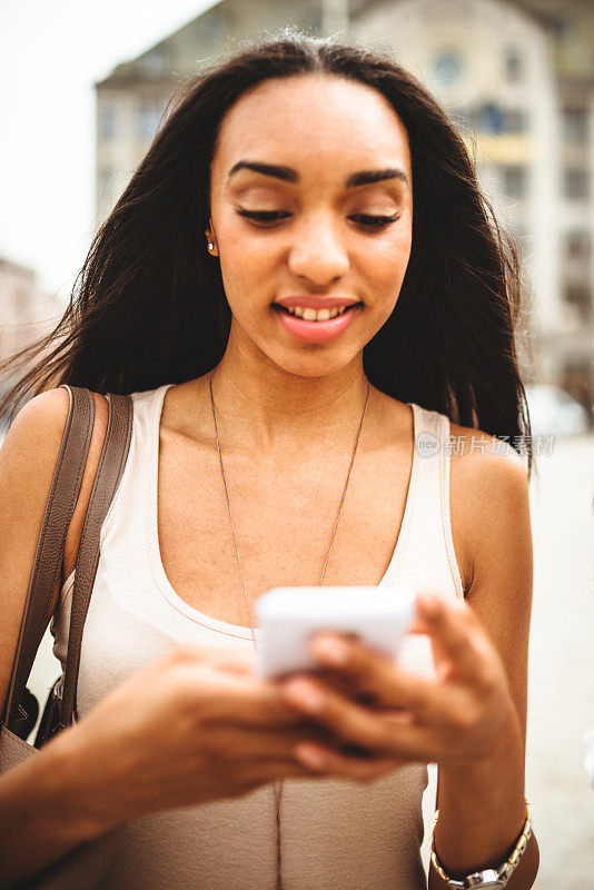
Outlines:
[{"label": "woman's nose, between her lowered eyes and smiling mouth", "polygon": [[326,216],[304,220],[289,253],[291,273],[325,287],[341,278],[348,267],[348,253],[336,225]]}]

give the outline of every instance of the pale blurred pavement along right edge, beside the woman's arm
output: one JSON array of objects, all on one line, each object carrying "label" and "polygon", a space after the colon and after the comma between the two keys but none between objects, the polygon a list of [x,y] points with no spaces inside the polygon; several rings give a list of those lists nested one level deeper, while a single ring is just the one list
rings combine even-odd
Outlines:
[{"label": "pale blurred pavement along right edge, beside the woman's arm", "polygon": [[561,441],[533,483],[534,600],[526,791],[539,890],[594,886],[594,789],[582,736],[594,729],[594,437]]}]

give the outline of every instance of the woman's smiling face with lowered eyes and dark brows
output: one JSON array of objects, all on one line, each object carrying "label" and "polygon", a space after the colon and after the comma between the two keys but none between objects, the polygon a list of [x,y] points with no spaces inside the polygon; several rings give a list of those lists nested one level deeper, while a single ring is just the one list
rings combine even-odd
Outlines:
[{"label": "woman's smiling face with lowered eyes and dark brows", "polygon": [[244,95],[221,122],[207,229],[231,336],[287,373],[346,367],[398,298],[412,187],[405,127],[373,88],[303,75]]}]

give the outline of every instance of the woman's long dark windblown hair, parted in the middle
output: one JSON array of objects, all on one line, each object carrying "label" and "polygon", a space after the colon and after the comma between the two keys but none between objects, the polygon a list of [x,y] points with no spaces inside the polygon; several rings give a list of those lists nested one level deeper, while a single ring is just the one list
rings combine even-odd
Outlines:
[{"label": "woman's long dark windblown hair, parted in the middle", "polygon": [[0,399],[0,414],[60,383],[131,393],[192,379],[218,364],[231,313],[204,231],[219,126],[250,87],[307,72],[374,87],[408,132],[412,254],[394,313],[364,348],[366,375],[384,393],[455,423],[512,444],[526,436],[522,449],[532,463],[514,339],[518,253],[481,192],[461,135],[388,55],[291,30],[222,59],[174,95],[93,238],[63,317],[0,368],[29,363]]}]

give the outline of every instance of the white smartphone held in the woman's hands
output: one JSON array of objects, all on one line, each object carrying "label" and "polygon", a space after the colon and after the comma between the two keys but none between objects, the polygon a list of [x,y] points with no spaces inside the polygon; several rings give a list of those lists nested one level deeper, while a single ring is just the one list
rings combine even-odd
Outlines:
[{"label": "white smartphone held in the woman's hands", "polygon": [[318,631],[357,634],[395,659],[413,615],[414,592],[404,586],[275,587],[256,601],[258,676],[319,669],[308,647]]}]

